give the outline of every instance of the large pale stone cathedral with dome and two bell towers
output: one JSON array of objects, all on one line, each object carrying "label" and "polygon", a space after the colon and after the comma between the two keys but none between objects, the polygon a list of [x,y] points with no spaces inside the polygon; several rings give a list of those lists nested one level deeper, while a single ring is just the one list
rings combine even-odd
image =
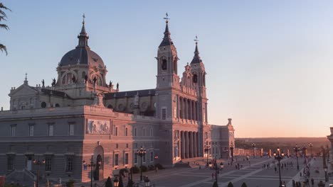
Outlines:
[{"label": "large pale stone cathedral with dome and two bell towers", "polygon": [[[26,77],[11,88],[9,111],[0,111],[0,175],[34,180],[39,171],[42,179],[90,181],[91,171],[94,180],[102,180],[141,160],[145,166],[172,167],[194,157],[231,156],[231,119],[227,125],[208,123],[206,69],[198,42],[179,76],[166,20],[156,88],[120,91],[105,80],[105,62],[88,39],[83,20],[78,45],[61,58],[51,86],[44,81],[29,85]],[[139,157],[141,147],[146,153]],[[42,160],[41,166],[34,164]]]}]

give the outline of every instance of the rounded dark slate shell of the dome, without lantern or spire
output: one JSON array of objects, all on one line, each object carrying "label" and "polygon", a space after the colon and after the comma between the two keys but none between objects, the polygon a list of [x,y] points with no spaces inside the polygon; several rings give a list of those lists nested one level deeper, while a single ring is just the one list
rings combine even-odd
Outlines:
[{"label": "rounded dark slate shell of the dome, without lantern or spire", "polygon": [[88,64],[99,68],[104,67],[102,58],[90,50],[89,47],[76,47],[74,50],[67,52],[60,61],[60,66],[68,66],[75,64]]}]

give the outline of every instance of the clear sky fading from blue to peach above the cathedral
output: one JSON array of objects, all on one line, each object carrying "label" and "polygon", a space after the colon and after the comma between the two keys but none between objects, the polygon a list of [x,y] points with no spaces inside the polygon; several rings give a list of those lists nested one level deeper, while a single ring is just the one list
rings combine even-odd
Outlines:
[{"label": "clear sky fading from blue to peach above the cathedral", "polygon": [[0,106],[23,84],[51,85],[75,48],[85,13],[88,45],[120,91],[156,86],[166,11],[179,75],[194,56],[206,67],[208,121],[233,118],[236,137],[323,137],[333,126],[333,1],[2,1]]}]

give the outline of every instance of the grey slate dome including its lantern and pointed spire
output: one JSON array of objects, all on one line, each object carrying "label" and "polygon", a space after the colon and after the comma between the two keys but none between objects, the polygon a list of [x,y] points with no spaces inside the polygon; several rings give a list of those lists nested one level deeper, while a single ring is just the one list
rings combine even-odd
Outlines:
[{"label": "grey slate dome including its lantern and pointed spire", "polygon": [[83,21],[82,24],[80,35],[78,35],[78,46],[76,46],[74,50],[67,52],[61,58],[59,66],[87,64],[99,68],[105,67],[102,58],[97,55],[96,52],[90,50],[90,47],[88,46],[89,36],[85,32],[85,21]]}]

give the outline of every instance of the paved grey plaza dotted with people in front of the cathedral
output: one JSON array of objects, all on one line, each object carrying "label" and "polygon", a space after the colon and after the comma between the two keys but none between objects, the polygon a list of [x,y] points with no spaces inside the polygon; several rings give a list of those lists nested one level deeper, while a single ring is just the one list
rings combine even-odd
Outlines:
[{"label": "paved grey plaza dotted with people in front of the cathedral", "polygon": [[[218,186],[226,187],[231,181],[233,186],[241,186],[243,182],[249,187],[268,187],[268,186],[278,186],[279,185],[279,174],[275,171],[275,164],[277,161],[272,158],[250,158],[250,164],[245,159],[245,157],[236,157],[235,160],[238,160],[235,163],[243,165],[242,169],[236,169],[235,163],[233,165],[228,165],[228,161],[218,159],[217,163],[223,162],[224,168],[218,174]],[[245,159],[245,161],[243,161]],[[152,186],[159,187],[168,187],[168,186],[177,186],[177,187],[210,187],[213,185],[215,179],[212,178],[212,173],[215,173],[215,170],[206,168],[206,160],[202,159],[187,159],[190,162],[191,168],[173,168],[173,169],[163,169],[159,171],[149,171],[144,173],[144,176],[148,176]],[[292,166],[287,166],[281,170],[282,181],[285,181],[286,186],[292,187],[292,180],[300,181],[303,185],[305,178],[300,176],[300,172],[303,171],[304,159],[299,158],[300,170],[297,170],[297,159],[294,158],[285,158],[282,159],[281,165],[287,162],[292,162]],[[194,164],[196,162],[196,164]],[[200,165],[198,165],[200,164]],[[269,168],[264,168],[263,164],[270,164]],[[199,169],[199,166],[201,169]],[[319,169],[319,173],[315,173],[315,169]],[[310,179],[314,179],[314,186],[317,187],[319,181],[325,181],[324,179],[324,169],[322,167],[322,157],[317,157],[310,161]],[[139,175],[134,174],[133,179],[136,182],[139,182]],[[333,179],[329,179],[329,182],[326,183],[326,186],[329,183],[333,183]],[[102,186],[103,183],[99,183]],[[126,184],[126,180],[125,180]],[[89,186],[88,183],[80,183],[77,186]],[[311,186],[311,183],[310,183]]]}]

